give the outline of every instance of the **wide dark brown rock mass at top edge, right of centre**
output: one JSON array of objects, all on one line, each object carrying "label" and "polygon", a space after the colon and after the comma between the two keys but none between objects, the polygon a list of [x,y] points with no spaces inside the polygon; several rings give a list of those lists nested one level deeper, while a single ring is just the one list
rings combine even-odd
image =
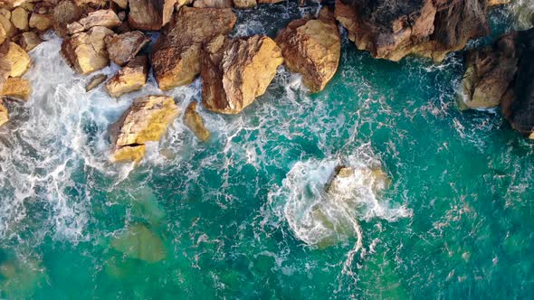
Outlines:
[{"label": "wide dark brown rock mass at top edge, right of centre", "polygon": [[486,0],[337,0],[336,18],[358,49],[377,58],[416,54],[443,61],[490,33],[486,8]]}]

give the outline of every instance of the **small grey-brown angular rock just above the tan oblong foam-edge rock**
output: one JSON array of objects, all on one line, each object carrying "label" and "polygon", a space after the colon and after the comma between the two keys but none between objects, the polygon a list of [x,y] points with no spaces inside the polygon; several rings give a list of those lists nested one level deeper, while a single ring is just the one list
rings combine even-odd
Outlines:
[{"label": "small grey-brown angular rock just above the tan oblong foam-edge rock", "polygon": [[119,66],[133,59],[148,42],[150,39],[139,31],[116,34],[106,38],[110,60]]}]

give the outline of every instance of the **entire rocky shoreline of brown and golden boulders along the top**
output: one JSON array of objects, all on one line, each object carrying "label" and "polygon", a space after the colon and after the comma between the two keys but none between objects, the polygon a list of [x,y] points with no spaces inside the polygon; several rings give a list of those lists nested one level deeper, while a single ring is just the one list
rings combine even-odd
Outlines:
[{"label": "entire rocky shoreline of brown and golden boulders along the top", "polygon": [[[27,100],[27,54],[43,33],[63,38],[62,56],[73,70],[89,75],[110,65],[121,69],[108,79],[88,78],[87,91],[104,84],[110,97],[142,89],[153,72],[162,91],[203,82],[202,105],[237,114],[265,93],[282,64],[302,76],[310,92],[324,89],[339,65],[339,24],[359,50],[379,59],[407,55],[443,61],[472,39],[490,33],[488,12],[502,0],[337,0],[317,16],[292,20],[272,39],[232,38],[236,9],[280,1],[251,0],[8,0],[0,4],[0,90],[3,100]],[[147,32],[159,31],[150,44]],[[509,33],[492,47],[466,53],[462,102],[469,108],[501,106],[512,127],[534,138],[534,30]],[[162,95],[134,100],[110,128],[111,157],[138,162],[144,144],[157,141],[179,115],[174,99]],[[210,133],[186,108],[184,123],[199,139]],[[0,126],[9,114],[0,101]]]}]

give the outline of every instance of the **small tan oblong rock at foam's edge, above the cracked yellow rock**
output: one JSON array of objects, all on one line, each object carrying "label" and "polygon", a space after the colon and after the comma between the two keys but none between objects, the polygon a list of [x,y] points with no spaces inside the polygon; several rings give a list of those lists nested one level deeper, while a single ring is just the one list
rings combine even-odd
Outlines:
[{"label": "small tan oblong rock at foam's edge, above the cracked yellow rock", "polygon": [[106,90],[111,97],[119,98],[126,93],[142,89],[147,79],[148,59],[146,56],[138,56],[106,83]]}]

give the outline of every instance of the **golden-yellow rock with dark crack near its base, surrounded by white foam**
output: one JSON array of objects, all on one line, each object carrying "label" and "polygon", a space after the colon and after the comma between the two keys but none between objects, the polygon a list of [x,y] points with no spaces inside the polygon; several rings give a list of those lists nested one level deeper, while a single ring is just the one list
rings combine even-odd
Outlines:
[{"label": "golden-yellow rock with dark crack near its base, surrounded by white foam", "polygon": [[115,161],[139,162],[145,155],[145,143],[158,141],[178,115],[173,98],[146,96],[132,106],[110,127]]}]

